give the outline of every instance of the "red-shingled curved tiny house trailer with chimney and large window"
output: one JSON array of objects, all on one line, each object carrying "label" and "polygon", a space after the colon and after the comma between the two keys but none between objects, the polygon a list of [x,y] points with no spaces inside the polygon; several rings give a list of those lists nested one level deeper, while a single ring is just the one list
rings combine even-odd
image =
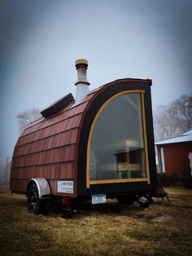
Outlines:
[{"label": "red-shingled curved tiny house trailer with chimney and large window", "polygon": [[151,80],[118,79],[89,91],[87,67],[76,60],[76,99],[69,94],[43,110],[15,145],[11,191],[26,193],[33,214],[54,197],[96,204],[155,192]]}]

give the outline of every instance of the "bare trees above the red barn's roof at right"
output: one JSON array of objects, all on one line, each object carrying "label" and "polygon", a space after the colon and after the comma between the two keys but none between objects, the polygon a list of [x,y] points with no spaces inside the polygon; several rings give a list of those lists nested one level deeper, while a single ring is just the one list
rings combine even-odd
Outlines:
[{"label": "bare trees above the red barn's roof at right", "polygon": [[154,114],[155,141],[171,139],[192,129],[192,95],[181,95]]}]

